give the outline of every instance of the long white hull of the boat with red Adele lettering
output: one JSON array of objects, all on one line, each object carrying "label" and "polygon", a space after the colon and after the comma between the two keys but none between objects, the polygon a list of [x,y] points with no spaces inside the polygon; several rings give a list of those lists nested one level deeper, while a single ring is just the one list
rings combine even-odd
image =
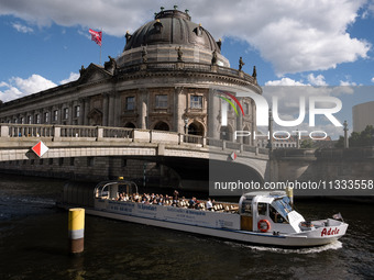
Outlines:
[{"label": "long white hull of the boat with red Adele lettering", "polygon": [[280,247],[312,247],[330,244],[343,236],[348,227],[348,224],[334,221],[331,226],[319,227],[314,231],[274,235],[271,232],[241,231],[239,214],[108,200],[96,200],[95,209],[88,208],[86,212],[102,217],[241,243]]}]

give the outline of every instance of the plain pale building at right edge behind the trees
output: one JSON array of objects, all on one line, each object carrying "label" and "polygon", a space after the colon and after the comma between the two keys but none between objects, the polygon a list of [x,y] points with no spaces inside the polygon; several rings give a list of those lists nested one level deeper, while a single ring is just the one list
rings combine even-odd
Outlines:
[{"label": "plain pale building at right edge behind the trees", "polygon": [[352,108],[353,132],[362,132],[367,125],[374,125],[374,101]]}]

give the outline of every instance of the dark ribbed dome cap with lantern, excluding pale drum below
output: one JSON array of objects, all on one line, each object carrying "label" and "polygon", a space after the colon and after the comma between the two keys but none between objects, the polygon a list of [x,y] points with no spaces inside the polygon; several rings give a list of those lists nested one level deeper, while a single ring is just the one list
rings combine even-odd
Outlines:
[{"label": "dark ribbed dome cap with lantern, excluding pale drum below", "polygon": [[127,44],[123,51],[163,44],[198,46],[220,53],[220,42],[217,43],[201,24],[191,22],[187,12],[178,10],[161,11],[155,14],[153,21],[138,29],[132,35],[127,33]]}]

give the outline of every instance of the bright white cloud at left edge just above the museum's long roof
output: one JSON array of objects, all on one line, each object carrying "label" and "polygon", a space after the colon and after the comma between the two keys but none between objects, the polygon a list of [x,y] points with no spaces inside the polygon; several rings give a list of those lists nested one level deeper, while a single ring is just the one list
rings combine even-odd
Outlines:
[{"label": "bright white cloud at left edge just above the museum's long roof", "polygon": [[0,88],[6,88],[0,91],[0,100],[8,102],[56,86],[57,85],[53,81],[45,79],[37,74],[33,74],[28,79],[13,77],[9,82],[0,82]]}]

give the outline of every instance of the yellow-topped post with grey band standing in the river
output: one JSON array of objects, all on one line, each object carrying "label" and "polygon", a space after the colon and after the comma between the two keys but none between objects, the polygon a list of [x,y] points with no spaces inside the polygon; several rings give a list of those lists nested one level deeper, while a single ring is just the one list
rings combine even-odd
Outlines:
[{"label": "yellow-topped post with grey band standing in the river", "polygon": [[68,220],[70,253],[82,253],[85,249],[85,209],[69,209]]}]

